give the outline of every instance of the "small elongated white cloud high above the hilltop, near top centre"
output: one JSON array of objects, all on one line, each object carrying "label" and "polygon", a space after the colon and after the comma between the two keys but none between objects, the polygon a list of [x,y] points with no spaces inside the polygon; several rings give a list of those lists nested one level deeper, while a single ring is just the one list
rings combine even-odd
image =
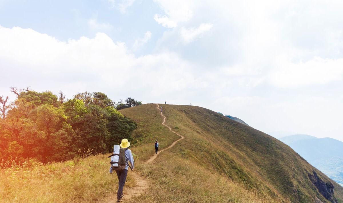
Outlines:
[{"label": "small elongated white cloud high above the hilltop, near top centre", "polygon": [[200,38],[205,32],[209,31],[212,27],[213,25],[210,23],[202,23],[197,28],[182,27],[180,30],[180,36],[185,43],[189,43]]}]

